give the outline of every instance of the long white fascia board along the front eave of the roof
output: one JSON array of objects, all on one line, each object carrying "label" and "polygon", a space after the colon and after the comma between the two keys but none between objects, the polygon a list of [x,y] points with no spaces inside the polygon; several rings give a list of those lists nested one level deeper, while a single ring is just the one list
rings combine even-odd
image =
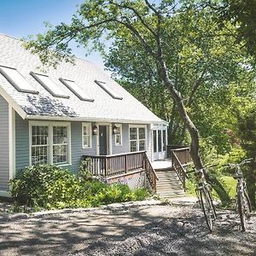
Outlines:
[{"label": "long white fascia board along the front eave of the roof", "polygon": [[151,120],[132,120],[132,119],[101,119],[101,118],[85,118],[85,117],[67,117],[67,116],[49,116],[49,115],[26,115],[25,119],[40,119],[40,120],[62,120],[62,121],[81,121],[81,122],[104,122],[104,123],[117,123],[117,124],[161,124],[160,121]]}]

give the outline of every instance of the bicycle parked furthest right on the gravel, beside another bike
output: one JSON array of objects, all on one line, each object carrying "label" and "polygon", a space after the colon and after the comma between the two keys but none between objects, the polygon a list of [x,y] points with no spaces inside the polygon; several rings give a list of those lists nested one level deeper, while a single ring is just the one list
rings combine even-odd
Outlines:
[{"label": "bicycle parked furthest right on the gravel, beside another bike", "polygon": [[250,218],[252,212],[252,205],[247,193],[247,183],[243,178],[243,173],[241,172],[241,166],[248,164],[253,159],[247,159],[241,161],[239,164],[227,164],[224,166],[230,166],[230,168],[235,168],[236,173],[233,176],[237,180],[236,184],[236,206],[239,212],[239,217],[241,221],[241,230],[246,230],[247,219]]}]

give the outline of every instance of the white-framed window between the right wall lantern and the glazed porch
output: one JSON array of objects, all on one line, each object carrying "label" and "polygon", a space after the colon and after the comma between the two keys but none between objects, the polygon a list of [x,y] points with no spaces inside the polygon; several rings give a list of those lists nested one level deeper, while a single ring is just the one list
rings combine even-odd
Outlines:
[{"label": "white-framed window between the right wall lantern and the glazed porch", "polygon": [[146,150],[146,127],[130,126],[130,151]]}]

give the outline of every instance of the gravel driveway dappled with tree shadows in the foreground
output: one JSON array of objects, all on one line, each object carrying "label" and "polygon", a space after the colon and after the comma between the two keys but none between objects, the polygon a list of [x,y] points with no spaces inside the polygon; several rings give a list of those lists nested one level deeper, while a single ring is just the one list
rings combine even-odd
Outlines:
[{"label": "gravel driveway dappled with tree shadows in the foreground", "polygon": [[241,232],[218,211],[208,233],[193,206],[137,206],[0,222],[0,255],[256,255],[256,216]]}]

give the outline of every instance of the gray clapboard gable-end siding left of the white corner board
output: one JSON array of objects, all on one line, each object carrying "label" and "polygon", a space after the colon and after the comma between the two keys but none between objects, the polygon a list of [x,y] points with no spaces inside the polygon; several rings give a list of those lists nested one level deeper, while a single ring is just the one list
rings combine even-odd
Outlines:
[{"label": "gray clapboard gable-end siding left of the white corner board", "polygon": [[9,189],[9,104],[0,96],[0,190]]}]

